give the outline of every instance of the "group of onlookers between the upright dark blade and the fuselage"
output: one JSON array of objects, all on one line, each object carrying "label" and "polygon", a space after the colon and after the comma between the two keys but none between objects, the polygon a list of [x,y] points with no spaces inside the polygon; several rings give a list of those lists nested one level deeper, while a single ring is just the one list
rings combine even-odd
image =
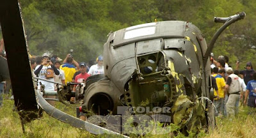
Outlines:
[{"label": "group of onlookers between the upright dark blade and the fuselage", "polygon": [[[103,57],[97,57],[97,64],[88,66],[85,62],[77,63],[73,56],[67,54],[63,60],[58,56],[49,56],[44,53],[40,56],[32,56],[31,68],[35,76],[50,81],[67,84],[67,82],[85,82],[90,75],[103,74]],[[87,73],[88,71],[88,73]],[[56,84],[51,82],[38,80],[37,89],[41,89],[40,85],[44,84],[45,90],[56,90]],[[55,85],[55,86],[54,86]]]}]

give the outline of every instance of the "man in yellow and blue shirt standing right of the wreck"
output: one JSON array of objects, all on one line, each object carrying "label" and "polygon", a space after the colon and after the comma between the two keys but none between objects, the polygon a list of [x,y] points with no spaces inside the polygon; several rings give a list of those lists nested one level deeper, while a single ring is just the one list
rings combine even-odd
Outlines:
[{"label": "man in yellow and blue shirt standing right of the wreck", "polygon": [[[213,77],[216,79],[216,84],[218,86],[218,94],[216,91],[214,91],[214,96],[216,98],[214,99],[214,105],[216,107],[216,110],[218,111],[218,115],[223,115],[223,104],[224,104],[224,98],[225,98],[225,79],[223,76],[225,76],[225,69],[218,70],[218,68],[213,68]],[[217,74],[218,73],[218,74]]]}]

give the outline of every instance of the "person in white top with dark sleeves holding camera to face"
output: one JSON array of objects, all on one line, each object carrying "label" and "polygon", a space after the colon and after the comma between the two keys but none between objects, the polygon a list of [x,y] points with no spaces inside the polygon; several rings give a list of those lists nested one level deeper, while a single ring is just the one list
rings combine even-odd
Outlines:
[{"label": "person in white top with dark sleeves holding camera to face", "polygon": [[[42,79],[48,79],[49,81],[54,81],[54,74],[60,74],[58,69],[54,65],[52,65],[50,56],[47,53],[43,54],[42,64],[36,66],[34,73],[35,75],[38,75],[38,77]],[[54,91],[53,83],[38,80],[37,89],[41,89],[41,84],[45,86],[44,90]],[[47,98],[55,98],[55,96],[47,96]],[[50,104],[54,104],[54,102],[51,102]]]}]

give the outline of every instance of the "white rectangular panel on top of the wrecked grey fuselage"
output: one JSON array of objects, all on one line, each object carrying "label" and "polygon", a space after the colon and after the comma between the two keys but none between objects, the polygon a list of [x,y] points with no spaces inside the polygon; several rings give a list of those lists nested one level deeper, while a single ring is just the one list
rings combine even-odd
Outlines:
[{"label": "white rectangular panel on top of the wrecked grey fuselage", "polygon": [[145,27],[140,29],[134,29],[134,30],[125,32],[124,39],[131,39],[139,36],[147,36],[155,33],[156,33],[156,27]]}]

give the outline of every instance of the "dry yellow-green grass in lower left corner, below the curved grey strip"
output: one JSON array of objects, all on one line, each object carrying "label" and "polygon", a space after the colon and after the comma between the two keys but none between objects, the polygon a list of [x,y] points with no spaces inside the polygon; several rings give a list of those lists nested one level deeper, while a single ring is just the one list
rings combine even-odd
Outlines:
[{"label": "dry yellow-green grass in lower left corner, below the curved grey strip", "polygon": [[[23,134],[19,114],[12,111],[13,105],[13,100],[5,98],[3,107],[0,107],[0,137],[95,137],[86,131],[58,121],[45,112],[42,118],[26,123],[26,134]],[[58,102],[56,106],[69,114],[76,113],[74,109]]]}]

